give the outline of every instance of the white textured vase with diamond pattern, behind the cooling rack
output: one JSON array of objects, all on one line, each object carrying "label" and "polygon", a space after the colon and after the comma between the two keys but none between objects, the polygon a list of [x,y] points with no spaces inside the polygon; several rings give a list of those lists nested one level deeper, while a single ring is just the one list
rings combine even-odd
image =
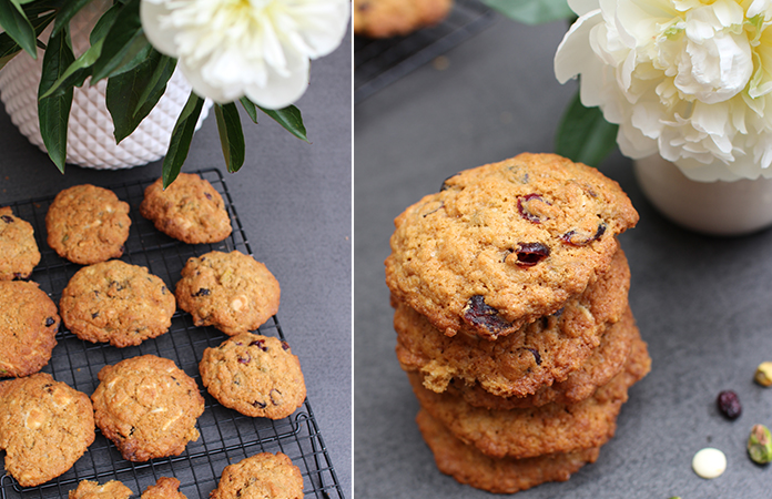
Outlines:
[{"label": "white textured vase with diamond pattern, behind the cooling rack", "polygon": [[[75,57],[89,48],[89,33],[110,2],[96,0],[87,6],[72,20],[72,49]],[[49,27],[50,30],[50,27]],[[47,30],[41,37],[48,39]],[[38,60],[22,52],[0,70],[0,100],[13,124],[31,143],[45,152],[38,121],[38,86],[43,52]],[[93,169],[125,169],[156,161],[166,154],[172,130],[191,92],[190,84],[180,71],[175,71],[166,84],[166,92],[155,108],[140,123],[134,133],[115,144],[113,123],[104,95],[108,82],[94,86],[90,80],[74,89],[70,122],[67,133],[67,162]],[[196,130],[209,114],[211,101],[196,123]]]}]

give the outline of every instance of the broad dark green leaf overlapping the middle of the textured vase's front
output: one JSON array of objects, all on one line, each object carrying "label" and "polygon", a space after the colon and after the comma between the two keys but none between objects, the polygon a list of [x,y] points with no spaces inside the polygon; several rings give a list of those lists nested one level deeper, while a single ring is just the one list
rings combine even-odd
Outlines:
[{"label": "broad dark green leaf overlapping the middle of the textured vase's front", "polygon": [[115,125],[115,142],[131,135],[166,91],[176,60],[153,50],[134,71],[108,80],[108,111]]}]

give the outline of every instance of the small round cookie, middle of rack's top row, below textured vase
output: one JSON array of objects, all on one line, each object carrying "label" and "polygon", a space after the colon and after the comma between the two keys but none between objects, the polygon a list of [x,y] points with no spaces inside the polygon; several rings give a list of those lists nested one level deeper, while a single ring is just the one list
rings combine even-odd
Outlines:
[{"label": "small round cookie, middle of rack's top row, below textured vase", "polygon": [[120,257],[130,226],[129,203],[90,184],[57,194],[45,214],[49,246],[81,265]]}]

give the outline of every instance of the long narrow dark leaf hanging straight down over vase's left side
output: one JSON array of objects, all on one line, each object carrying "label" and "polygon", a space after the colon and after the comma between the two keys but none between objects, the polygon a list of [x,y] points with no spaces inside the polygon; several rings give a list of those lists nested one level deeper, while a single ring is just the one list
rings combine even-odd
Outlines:
[{"label": "long narrow dark leaf hanging straight down over vase's left side", "polygon": [[[38,94],[44,94],[74,59],[68,29],[61,30],[55,37],[51,37],[43,55],[43,69]],[[40,134],[43,138],[43,144],[45,144],[49,156],[62,173],[64,173],[64,163],[67,161],[67,126],[70,120],[71,106],[72,89],[62,95],[49,96],[38,101],[38,119],[40,120]]]}]

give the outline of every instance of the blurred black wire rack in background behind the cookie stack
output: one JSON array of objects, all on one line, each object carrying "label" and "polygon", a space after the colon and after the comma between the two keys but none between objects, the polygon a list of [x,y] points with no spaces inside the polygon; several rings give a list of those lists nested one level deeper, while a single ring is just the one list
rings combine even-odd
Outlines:
[{"label": "blurred black wire rack in background behind the cookie stack", "polygon": [[426,64],[488,27],[496,13],[478,0],[455,0],[437,26],[405,37],[354,38],[354,103]]}]

